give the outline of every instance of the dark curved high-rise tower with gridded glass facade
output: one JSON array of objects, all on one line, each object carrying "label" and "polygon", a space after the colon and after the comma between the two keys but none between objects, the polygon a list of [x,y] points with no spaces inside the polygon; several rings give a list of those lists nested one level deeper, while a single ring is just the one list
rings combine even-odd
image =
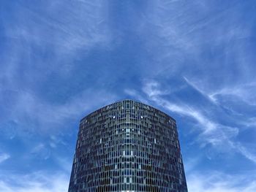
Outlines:
[{"label": "dark curved high-rise tower with gridded glass facade", "polygon": [[124,100],[80,120],[69,192],[187,192],[176,120]]}]

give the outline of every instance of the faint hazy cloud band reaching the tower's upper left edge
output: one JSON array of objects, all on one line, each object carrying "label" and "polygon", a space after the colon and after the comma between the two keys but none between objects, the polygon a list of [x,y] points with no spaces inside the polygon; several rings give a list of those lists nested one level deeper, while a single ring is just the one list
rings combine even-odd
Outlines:
[{"label": "faint hazy cloud band reaching the tower's upper left edge", "polygon": [[[67,120],[79,120],[78,118],[83,117],[91,108],[99,107],[116,99],[115,95],[106,91],[87,89],[77,96],[67,99],[63,104],[55,104],[44,101],[31,91],[15,92],[15,97],[12,100],[15,104],[9,106],[4,120],[14,120],[20,127],[30,131],[57,130],[62,128]],[[29,120],[30,126],[26,125],[26,120]]]}]

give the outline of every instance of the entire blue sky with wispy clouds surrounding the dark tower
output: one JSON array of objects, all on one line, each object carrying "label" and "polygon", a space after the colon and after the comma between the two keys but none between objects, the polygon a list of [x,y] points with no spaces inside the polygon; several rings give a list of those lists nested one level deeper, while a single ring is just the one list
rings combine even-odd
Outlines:
[{"label": "entire blue sky with wispy clouds surrounding the dark tower", "polygon": [[67,191],[78,123],[178,123],[189,191],[256,191],[255,1],[1,1],[0,191]]}]

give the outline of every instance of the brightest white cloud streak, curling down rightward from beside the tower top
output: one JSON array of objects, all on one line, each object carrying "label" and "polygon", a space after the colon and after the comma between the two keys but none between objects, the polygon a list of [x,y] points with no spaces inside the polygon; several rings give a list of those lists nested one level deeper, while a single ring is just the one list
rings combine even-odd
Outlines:
[{"label": "brightest white cloud streak, curling down rightward from beside the tower top", "polygon": [[254,153],[234,141],[234,138],[238,135],[238,128],[222,125],[222,123],[211,120],[211,118],[208,118],[202,111],[189,106],[189,104],[173,104],[171,101],[163,99],[162,96],[165,95],[167,91],[161,91],[158,82],[146,82],[143,86],[143,91],[147,94],[148,99],[156,102],[157,105],[172,112],[176,112],[178,115],[185,115],[195,120],[197,123],[195,127],[200,128],[198,137],[200,142],[203,142],[201,146],[210,143],[218,150],[224,150],[224,148],[227,150],[236,150],[236,152],[241,153],[241,155],[244,155],[244,157],[256,163]]}]

